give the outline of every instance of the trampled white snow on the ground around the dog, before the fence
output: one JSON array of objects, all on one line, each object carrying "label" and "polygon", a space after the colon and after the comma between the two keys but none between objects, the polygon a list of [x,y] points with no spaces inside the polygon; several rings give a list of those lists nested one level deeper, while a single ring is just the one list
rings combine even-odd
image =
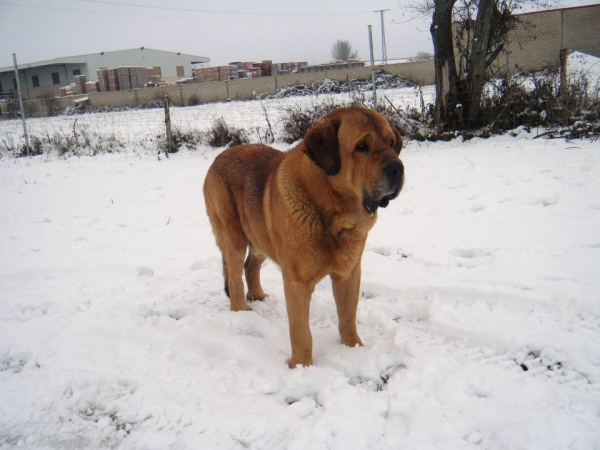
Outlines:
[{"label": "trampled white snow on the ground around the dog, before the fence", "polygon": [[513,134],[403,150],[366,345],[339,343],[324,280],[295,370],[274,264],[229,312],[219,150],[0,159],[0,448],[600,448],[599,146]]}]

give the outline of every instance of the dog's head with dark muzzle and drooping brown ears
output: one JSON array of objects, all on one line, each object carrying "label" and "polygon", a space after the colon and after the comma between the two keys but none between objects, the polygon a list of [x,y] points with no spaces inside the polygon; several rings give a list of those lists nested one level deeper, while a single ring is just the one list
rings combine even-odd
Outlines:
[{"label": "dog's head with dark muzzle and drooping brown ears", "polygon": [[375,214],[404,185],[402,138],[381,114],[361,107],[335,109],[306,134],[304,152],[332,184],[352,189]]}]

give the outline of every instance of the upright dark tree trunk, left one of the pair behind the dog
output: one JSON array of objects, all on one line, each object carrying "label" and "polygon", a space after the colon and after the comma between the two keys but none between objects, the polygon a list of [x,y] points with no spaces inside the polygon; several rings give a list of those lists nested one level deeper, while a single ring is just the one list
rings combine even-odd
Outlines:
[{"label": "upright dark tree trunk, left one of the pair behind the dog", "polygon": [[456,0],[435,0],[431,37],[434,48],[436,125],[455,127],[457,117],[458,77],[452,39],[452,8]]}]

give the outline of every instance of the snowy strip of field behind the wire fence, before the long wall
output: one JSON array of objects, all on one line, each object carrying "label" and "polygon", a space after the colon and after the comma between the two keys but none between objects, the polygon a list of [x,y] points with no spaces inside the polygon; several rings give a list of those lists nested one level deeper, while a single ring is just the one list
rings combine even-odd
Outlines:
[{"label": "snowy strip of field behind the wire fence, before the long wall", "polygon": [[[366,95],[366,94],[365,94]],[[394,107],[421,108],[423,102],[433,101],[433,87],[384,89],[378,93]],[[322,102],[348,104],[353,94],[326,94],[252,101],[230,101],[197,106],[170,108],[171,127],[175,134],[208,132],[218,119],[228,126],[243,130],[252,142],[260,142],[268,132],[280,140],[282,122],[290,108],[310,110]],[[114,146],[154,151],[164,147],[166,139],[163,108],[131,109],[101,113],[86,113],[27,119],[30,141],[75,143],[112,142]],[[24,145],[20,120],[0,121],[0,152],[16,151]]]}]

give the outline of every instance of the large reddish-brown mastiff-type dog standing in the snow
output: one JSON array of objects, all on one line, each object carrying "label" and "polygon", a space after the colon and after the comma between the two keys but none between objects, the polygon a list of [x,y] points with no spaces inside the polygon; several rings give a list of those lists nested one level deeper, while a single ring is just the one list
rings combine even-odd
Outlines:
[{"label": "large reddish-brown mastiff-type dog standing in the snow", "polygon": [[260,268],[267,257],[275,261],[283,274],[290,367],[312,364],[310,299],[326,275],[342,343],[363,345],[356,330],[361,258],[377,208],[404,184],[401,148],[400,135],[381,114],[339,108],[287,152],[240,145],[217,156],[208,170],[206,211],[223,255],[231,310],[249,310],[246,299],[267,296]]}]

